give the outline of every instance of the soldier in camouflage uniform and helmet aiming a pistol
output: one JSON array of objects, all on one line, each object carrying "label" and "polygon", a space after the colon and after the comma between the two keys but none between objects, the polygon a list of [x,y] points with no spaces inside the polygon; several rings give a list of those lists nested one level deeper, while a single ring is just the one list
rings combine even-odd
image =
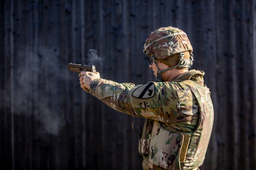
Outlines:
[{"label": "soldier in camouflage uniform and helmet aiming a pistol", "polygon": [[157,82],[135,86],[81,72],[81,88],[115,110],[146,118],[139,140],[144,170],[198,170],[212,132],[213,104],[204,72],[188,70],[191,43],[182,30],[165,27],[150,34],[143,51]]}]

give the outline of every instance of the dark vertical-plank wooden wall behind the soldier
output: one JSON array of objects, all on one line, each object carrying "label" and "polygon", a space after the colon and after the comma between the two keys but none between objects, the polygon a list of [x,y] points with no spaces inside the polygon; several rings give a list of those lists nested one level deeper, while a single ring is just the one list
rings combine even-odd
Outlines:
[{"label": "dark vertical-plank wooden wall behind the soldier", "polygon": [[0,1],[1,169],[142,169],[133,121],[79,86],[69,62],[105,79],[154,81],[143,45],[173,26],[194,48],[215,109],[201,170],[256,167],[256,0]]}]

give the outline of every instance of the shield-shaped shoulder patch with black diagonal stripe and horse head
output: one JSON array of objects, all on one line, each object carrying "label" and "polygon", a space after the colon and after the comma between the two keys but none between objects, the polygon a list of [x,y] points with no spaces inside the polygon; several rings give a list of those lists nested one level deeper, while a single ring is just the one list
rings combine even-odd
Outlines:
[{"label": "shield-shaped shoulder patch with black diagonal stripe and horse head", "polygon": [[155,95],[155,83],[149,82],[139,86],[133,91],[132,96],[139,99],[147,99]]}]

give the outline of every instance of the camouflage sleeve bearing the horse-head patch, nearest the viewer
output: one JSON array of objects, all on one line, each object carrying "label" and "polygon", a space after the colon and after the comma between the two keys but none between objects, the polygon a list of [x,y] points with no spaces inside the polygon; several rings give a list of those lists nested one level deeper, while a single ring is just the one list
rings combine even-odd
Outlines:
[{"label": "camouflage sleeve bearing the horse-head patch, nearest the viewer", "polygon": [[[166,97],[166,89],[170,98]],[[149,82],[135,86],[106,79],[93,81],[89,89],[93,96],[119,112],[168,123],[177,118],[178,103],[176,92],[170,91],[175,91],[175,87],[164,82]]]}]

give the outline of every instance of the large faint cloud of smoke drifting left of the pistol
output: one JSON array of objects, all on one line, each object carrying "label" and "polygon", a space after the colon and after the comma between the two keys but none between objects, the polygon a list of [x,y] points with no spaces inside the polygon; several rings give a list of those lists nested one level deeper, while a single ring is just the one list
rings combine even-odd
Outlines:
[{"label": "large faint cloud of smoke drifting left of the pistol", "polygon": [[31,125],[37,133],[57,135],[65,122],[61,102],[53,100],[56,96],[61,100],[58,89],[63,88],[61,78],[65,77],[57,67],[58,50],[39,46],[32,52],[31,46],[17,49],[14,113],[38,122],[36,127]]}]

